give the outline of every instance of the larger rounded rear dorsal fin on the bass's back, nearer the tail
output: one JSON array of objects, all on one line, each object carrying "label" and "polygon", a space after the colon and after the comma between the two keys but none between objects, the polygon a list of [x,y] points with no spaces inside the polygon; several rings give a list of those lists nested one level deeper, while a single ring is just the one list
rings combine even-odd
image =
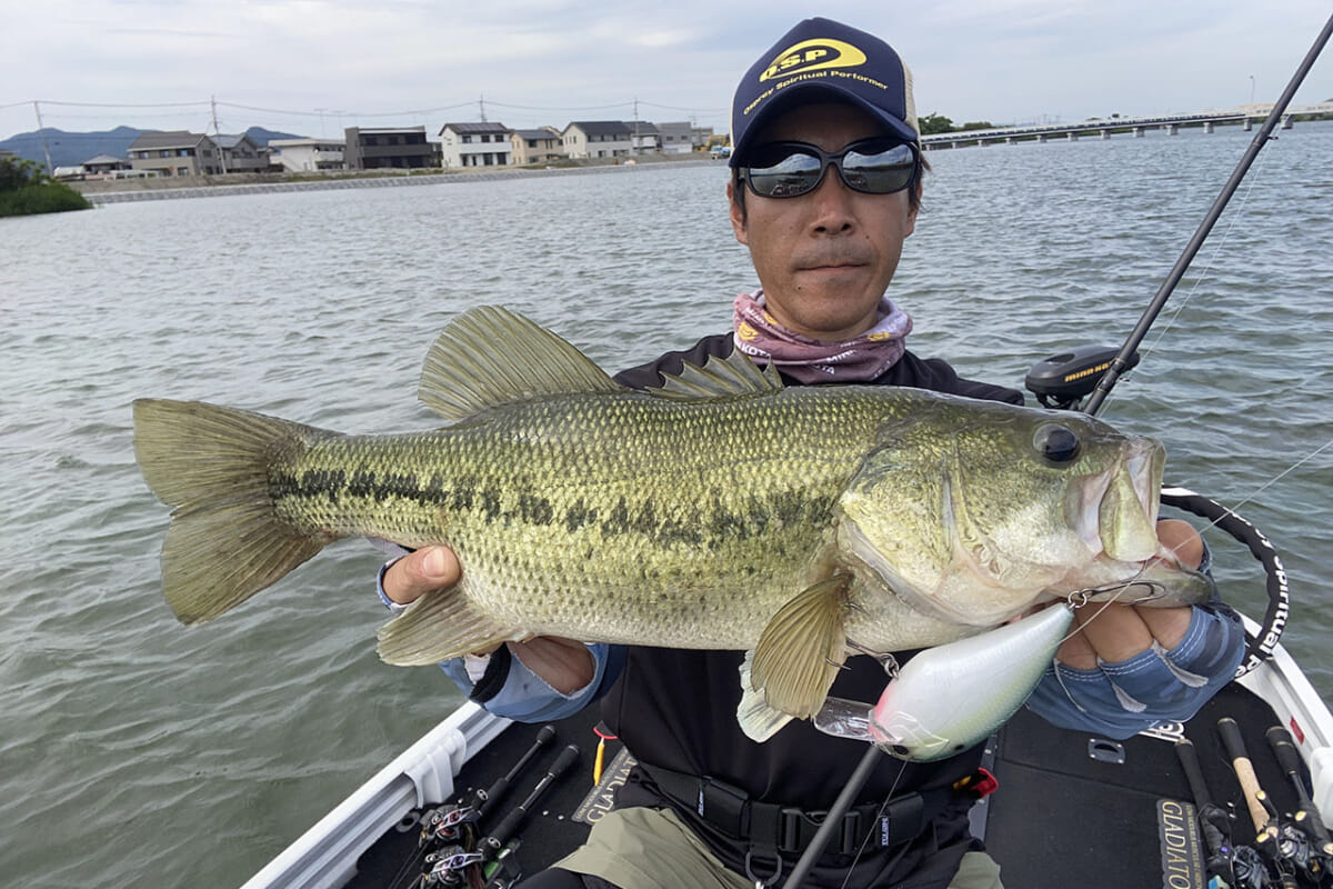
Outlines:
[{"label": "larger rounded rear dorsal fin on the bass's back, nearer the tail", "polygon": [[513,401],[576,392],[623,392],[577,348],[496,305],[468,309],[436,337],[417,397],[447,420]]}]

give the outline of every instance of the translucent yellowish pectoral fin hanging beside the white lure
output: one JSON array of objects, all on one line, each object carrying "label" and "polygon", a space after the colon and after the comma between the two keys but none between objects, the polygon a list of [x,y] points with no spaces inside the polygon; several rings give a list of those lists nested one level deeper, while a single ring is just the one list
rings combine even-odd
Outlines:
[{"label": "translucent yellowish pectoral fin hanging beside the white lure", "polygon": [[846,657],[844,614],[850,574],[806,586],[778,609],[754,648],[750,682],[769,706],[813,716]]}]

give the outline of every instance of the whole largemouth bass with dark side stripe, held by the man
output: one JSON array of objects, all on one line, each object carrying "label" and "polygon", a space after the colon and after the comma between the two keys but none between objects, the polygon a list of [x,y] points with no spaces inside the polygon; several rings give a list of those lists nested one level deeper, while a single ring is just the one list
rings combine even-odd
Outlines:
[{"label": "whole largemouth bass with dark side stripe, held by the man", "polygon": [[784,388],[738,353],[631,391],[491,307],[440,335],[420,397],[452,423],[344,436],[136,401],[176,616],[212,620],[340,537],[444,542],[463,580],[381,629],[388,662],[537,634],[753,650],[764,702],[809,717],[849,640],[937,645],[1080,590],[1210,592],[1158,544],[1161,446],[1084,415]]}]

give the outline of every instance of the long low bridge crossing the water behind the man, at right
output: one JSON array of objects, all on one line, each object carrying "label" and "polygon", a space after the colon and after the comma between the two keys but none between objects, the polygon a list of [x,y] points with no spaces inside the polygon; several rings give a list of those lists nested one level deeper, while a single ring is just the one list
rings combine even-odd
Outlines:
[{"label": "long low bridge crossing the water behind the man, at right", "polygon": [[[1017,141],[1045,143],[1052,139],[1077,141],[1081,136],[1110,139],[1112,133],[1132,133],[1141,137],[1149,129],[1164,129],[1168,136],[1180,133],[1181,127],[1201,127],[1210,133],[1218,124],[1241,124],[1246,132],[1262,123],[1273,109],[1272,105],[1242,105],[1228,111],[1205,111],[1196,115],[1164,115],[1154,117],[1093,117],[1076,124],[1020,124],[1016,127],[993,127],[990,129],[969,129],[954,133],[922,136],[921,145],[926,149],[962,148],[965,145],[1012,144]],[[1317,105],[1289,107],[1282,115],[1282,129],[1290,129],[1294,117],[1306,115],[1333,115],[1333,101]]]}]

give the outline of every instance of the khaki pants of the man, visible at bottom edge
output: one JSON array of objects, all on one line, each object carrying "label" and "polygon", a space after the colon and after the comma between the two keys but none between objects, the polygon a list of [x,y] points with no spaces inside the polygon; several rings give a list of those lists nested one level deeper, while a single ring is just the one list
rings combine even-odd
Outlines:
[{"label": "khaki pants of the man, visible at bottom edge", "polygon": [[[553,866],[596,874],[621,889],[754,889],[669,809],[615,809],[593,825],[587,844]],[[1000,865],[984,852],[969,852],[949,889],[1004,889]]]}]

